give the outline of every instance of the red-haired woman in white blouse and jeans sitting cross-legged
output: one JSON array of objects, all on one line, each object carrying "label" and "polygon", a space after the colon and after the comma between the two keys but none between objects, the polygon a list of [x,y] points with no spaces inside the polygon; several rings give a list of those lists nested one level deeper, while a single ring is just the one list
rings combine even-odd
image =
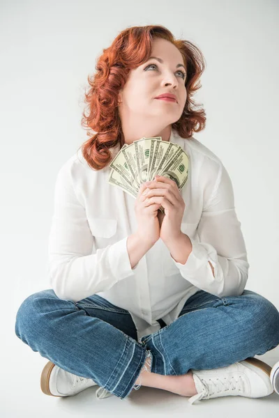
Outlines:
[{"label": "red-haired woman in white blouse and jeans sitting cross-legged", "polygon": [[[96,70],[83,120],[95,133],[56,180],[52,288],[17,312],[17,336],[50,360],[41,389],[70,396],[99,385],[100,397],[123,399],[145,385],[190,403],[273,393],[271,367],[252,357],[278,346],[279,313],[244,290],[232,182],[192,136],[206,121],[193,100],[202,53],[164,26],[135,26],[104,49]],[[158,98],[166,94],[174,100]],[[108,183],[114,155],[142,137],[186,151],[181,191],[160,176],[133,199]]]}]

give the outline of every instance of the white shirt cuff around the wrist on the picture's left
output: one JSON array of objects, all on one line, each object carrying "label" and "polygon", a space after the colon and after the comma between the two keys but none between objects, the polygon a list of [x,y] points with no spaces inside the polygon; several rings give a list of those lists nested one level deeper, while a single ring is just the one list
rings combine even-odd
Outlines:
[{"label": "white shirt cuff around the wrist on the picture's left", "polygon": [[138,264],[134,268],[130,265],[127,240],[128,236],[112,244],[109,249],[110,269],[114,276],[119,279],[135,275],[135,268],[137,268]]}]

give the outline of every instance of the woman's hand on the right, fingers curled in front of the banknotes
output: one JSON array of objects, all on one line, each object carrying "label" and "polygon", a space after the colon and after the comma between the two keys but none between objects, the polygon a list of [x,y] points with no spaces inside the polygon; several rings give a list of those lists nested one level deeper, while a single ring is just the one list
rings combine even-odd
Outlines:
[{"label": "woman's hand on the right, fingers curled in front of the banknotes", "polygon": [[181,235],[181,220],[185,202],[174,180],[164,176],[156,176],[147,186],[149,192],[145,195],[150,203],[160,203],[165,214],[158,210],[160,238],[167,244]]}]

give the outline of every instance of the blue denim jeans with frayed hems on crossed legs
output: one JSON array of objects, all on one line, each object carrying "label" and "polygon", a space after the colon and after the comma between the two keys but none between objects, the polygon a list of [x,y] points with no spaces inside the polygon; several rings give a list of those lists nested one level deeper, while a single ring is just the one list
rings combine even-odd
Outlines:
[{"label": "blue denim jeans with frayed hems on crossed legs", "polygon": [[61,300],[52,289],[27,297],[17,311],[15,334],[33,351],[70,373],[91,378],[123,399],[135,389],[145,359],[160,375],[217,369],[279,345],[279,312],[248,290],[218,297],[198,291],[179,318],[137,341],[129,312],[100,295]]}]

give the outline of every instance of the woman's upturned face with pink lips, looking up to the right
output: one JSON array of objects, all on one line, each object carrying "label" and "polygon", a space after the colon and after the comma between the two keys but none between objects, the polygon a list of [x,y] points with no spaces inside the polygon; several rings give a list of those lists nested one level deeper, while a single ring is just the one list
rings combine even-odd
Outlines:
[{"label": "woman's upturned face with pink lips, looking up to the right", "polygon": [[[186,103],[186,68],[183,56],[172,42],[162,38],[153,40],[151,56],[146,63],[131,70],[123,90],[119,92],[119,116],[124,123],[160,120],[162,127],[175,123],[181,117]],[[179,65],[179,66],[178,66]],[[158,100],[156,96],[172,93],[176,102]]]}]

